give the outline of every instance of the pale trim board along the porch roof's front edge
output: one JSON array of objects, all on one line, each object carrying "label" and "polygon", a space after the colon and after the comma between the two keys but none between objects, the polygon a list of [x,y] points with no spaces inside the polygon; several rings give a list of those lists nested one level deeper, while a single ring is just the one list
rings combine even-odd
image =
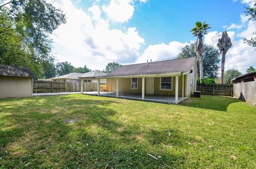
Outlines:
[{"label": "pale trim board along the porch roof's front edge", "polygon": [[[138,75],[121,75],[113,77],[95,77],[95,79],[109,79],[109,78],[142,78],[142,77],[175,77],[180,76],[182,72],[173,72],[173,73],[159,73],[159,74],[138,74]],[[184,72],[184,74],[189,72]]]}]

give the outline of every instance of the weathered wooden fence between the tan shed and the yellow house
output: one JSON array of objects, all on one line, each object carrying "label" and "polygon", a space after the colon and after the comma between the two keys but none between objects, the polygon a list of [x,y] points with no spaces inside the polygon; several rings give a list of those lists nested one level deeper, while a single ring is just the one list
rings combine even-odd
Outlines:
[{"label": "weathered wooden fence between the tan shed and the yellow house", "polygon": [[[80,92],[81,82],[34,81],[33,93]],[[97,91],[97,83],[84,82],[83,91]]]}]

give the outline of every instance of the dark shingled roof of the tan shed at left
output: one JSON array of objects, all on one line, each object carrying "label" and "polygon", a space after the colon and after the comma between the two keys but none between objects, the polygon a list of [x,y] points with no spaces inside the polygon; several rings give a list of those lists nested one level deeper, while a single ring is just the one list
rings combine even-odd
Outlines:
[{"label": "dark shingled roof of the tan shed at left", "polygon": [[27,67],[0,65],[0,75],[9,77],[34,77]]}]

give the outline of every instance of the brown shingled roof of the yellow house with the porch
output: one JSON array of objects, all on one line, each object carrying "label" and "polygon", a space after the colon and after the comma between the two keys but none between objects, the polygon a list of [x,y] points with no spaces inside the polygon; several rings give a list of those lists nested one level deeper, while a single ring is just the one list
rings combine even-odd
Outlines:
[{"label": "brown shingled roof of the yellow house with the porch", "polygon": [[158,61],[152,63],[139,63],[123,65],[104,77],[116,77],[124,75],[158,74],[172,72],[188,72],[192,69],[196,57],[177,60]]}]

